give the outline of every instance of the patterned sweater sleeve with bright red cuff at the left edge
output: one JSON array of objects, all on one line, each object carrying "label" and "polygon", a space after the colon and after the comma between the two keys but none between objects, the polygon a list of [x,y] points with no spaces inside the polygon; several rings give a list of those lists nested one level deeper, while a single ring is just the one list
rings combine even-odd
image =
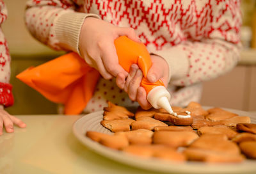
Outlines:
[{"label": "patterned sweater sleeve with bright red cuff at the left edge", "polygon": [[10,81],[10,52],[8,49],[8,43],[4,37],[1,25],[7,18],[7,9],[4,5],[3,0],[0,0],[0,105],[4,107],[12,106],[13,95],[12,95],[12,85],[9,84]]}]

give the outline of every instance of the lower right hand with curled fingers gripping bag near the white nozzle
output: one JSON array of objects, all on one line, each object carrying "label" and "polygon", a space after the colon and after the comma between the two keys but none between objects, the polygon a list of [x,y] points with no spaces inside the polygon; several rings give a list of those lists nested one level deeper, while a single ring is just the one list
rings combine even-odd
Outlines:
[{"label": "lower right hand with curled fingers gripping bag near the white nozzle", "polygon": [[[169,67],[166,61],[156,55],[151,55],[152,67],[148,70],[147,79],[151,83],[155,83],[161,79],[164,86],[168,85]],[[124,90],[128,93],[131,100],[137,100],[143,109],[150,109],[151,104],[147,100],[147,93],[143,87],[140,86],[143,74],[138,68],[138,65],[132,65],[130,73],[124,84]],[[116,78],[116,83],[119,79],[119,75]]]}]

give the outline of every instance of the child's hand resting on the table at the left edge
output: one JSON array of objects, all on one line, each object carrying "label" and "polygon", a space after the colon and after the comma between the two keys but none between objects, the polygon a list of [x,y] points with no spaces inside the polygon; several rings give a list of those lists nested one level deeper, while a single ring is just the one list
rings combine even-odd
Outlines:
[{"label": "child's hand resting on the table at the left edge", "polygon": [[22,122],[19,118],[9,115],[4,111],[3,106],[0,106],[0,136],[3,134],[3,125],[6,132],[13,132],[13,123],[21,128],[26,127],[26,123]]}]

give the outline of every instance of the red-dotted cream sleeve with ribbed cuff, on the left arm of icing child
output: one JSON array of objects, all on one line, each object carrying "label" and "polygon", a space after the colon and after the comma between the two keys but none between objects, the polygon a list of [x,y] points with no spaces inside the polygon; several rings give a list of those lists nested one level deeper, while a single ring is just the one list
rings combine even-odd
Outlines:
[{"label": "red-dotted cream sleeve with ribbed cuff, on the left arm of icing child", "polygon": [[79,35],[86,17],[91,13],[79,13],[79,4],[67,0],[30,0],[26,8],[26,26],[31,35],[56,50],[79,53]]}]

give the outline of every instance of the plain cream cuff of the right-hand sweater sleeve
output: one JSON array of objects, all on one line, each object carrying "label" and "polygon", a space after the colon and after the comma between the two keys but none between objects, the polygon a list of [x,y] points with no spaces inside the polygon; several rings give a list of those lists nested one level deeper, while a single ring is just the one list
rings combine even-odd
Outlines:
[{"label": "plain cream cuff of the right-hand sweater sleeve", "polygon": [[182,51],[180,45],[173,46],[170,49],[150,52],[165,59],[169,66],[169,81],[186,77],[189,70],[188,56]]}]

